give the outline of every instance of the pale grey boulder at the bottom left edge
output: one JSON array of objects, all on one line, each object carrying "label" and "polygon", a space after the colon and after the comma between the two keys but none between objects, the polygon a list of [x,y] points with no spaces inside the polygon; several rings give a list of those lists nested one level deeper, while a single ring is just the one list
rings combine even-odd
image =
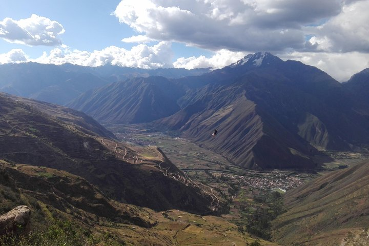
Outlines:
[{"label": "pale grey boulder at the bottom left edge", "polygon": [[6,232],[16,232],[19,229],[28,229],[31,211],[27,206],[18,206],[0,216],[0,235]]}]

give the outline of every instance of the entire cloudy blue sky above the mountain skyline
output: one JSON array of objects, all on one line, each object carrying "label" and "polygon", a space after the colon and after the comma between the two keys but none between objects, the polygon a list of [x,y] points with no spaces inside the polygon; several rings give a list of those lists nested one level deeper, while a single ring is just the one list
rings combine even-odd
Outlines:
[{"label": "entire cloudy blue sky above the mountain skyline", "polygon": [[369,67],[369,0],[0,0],[0,64],[222,68],[259,51]]}]

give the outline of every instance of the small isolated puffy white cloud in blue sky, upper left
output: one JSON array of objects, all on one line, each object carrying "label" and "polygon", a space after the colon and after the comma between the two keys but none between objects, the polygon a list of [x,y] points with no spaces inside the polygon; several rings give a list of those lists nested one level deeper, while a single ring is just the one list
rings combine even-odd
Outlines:
[{"label": "small isolated puffy white cloud in blue sky, upper left", "polygon": [[0,22],[0,37],[15,44],[61,45],[59,35],[64,32],[63,26],[56,21],[36,14],[27,19],[5,18]]}]

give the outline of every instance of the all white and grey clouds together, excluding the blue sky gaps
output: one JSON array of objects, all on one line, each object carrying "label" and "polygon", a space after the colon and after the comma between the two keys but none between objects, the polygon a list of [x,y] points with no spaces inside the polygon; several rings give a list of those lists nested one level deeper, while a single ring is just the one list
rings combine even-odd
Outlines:
[{"label": "all white and grey clouds together, excluding the blue sky gaps", "polygon": [[[221,68],[245,54],[270,51],[282,59],[301,60],[344,81],[369,67],[369,0],[122,0],[114,11],[137,35],[110,46],[80,51],[60,45],[59,23],[32,15],[5,18],[0,37],[27,45],[60,45],[39,63],[106,64],[140,68]],[[144,43],[157,41],[155,46]],[[171,42],[211,50],[211,57],[174,57]],[[29,61],[22,50],[0,54],[0,63]]]}]

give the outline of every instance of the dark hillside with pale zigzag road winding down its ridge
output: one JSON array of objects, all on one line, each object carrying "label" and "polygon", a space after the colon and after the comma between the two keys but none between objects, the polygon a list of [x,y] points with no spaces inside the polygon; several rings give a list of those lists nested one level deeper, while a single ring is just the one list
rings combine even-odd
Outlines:
[{"label": "dark hillside with pale zigzag road winding down its ridge", "polygon": [[[1,159],[64,170],[110,198],[155,210],[207,214],[224,209],[218,194],[188,178],[160,150],[124,146],[88,116],[76,120],[79,113],[6,94],[0,94],[0,112]],[[94,129],[106,136],[91,133]]]}]

